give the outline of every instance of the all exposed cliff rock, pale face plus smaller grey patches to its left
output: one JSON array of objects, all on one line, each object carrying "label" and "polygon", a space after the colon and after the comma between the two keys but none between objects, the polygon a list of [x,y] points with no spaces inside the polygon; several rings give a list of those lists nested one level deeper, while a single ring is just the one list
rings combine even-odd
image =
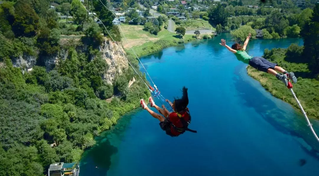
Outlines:
[{"label": "all exposed cliff rock, pale face plus smaller grey patches to its left", "polygon": [[[85,52],[87,47],[80,47],[77,50]],[[122,74],[129,66],[125,59],[125,51],[120,46],[117,46],[113,41],[105,39],[103,44],[99,47],[102,58],[108,63],[108,70],[102,75],[107,83],[112,84],[116,74]],[[124,54],[123,54],[124,53]],[[58,63],[58,60],[65,60],[68,57],[68,52],[61,49],[59,53],[53,56],[46,56],[44,58],[44,64],[47,70],[52,70]],[[94,58],[93,58],[94,59]],[[12,58],[14,67],[21,67],[23,70],[32,70],[32,67],[36,65],[37,57],[30,55],[21,55],[19,57]]]}]

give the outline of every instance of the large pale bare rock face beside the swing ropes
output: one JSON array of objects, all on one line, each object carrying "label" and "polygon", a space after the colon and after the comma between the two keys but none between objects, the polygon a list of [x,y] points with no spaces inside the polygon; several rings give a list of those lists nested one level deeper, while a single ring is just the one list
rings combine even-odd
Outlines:
[{"label": "large pale bare rock face beside the swing ropes", "polygon": [[[113,41],[105,39],[100,46],[102,58],[108,63],[108,70],[103,74],[102,79],[112,84],[116,74],[122,74],[129,67],[126,60],[126,53],[122,47],[117,46]],[[124,53],[124,54],[123,54]]]}]

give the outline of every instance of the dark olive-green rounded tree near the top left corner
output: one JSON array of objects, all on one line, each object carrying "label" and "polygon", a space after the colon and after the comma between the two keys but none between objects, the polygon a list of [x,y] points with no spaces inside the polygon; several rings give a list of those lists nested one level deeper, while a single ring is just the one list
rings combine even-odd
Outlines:
[{"label": "dark olive-green rounded tree near the top left corner", "polygon": [[16,36],[34,36],[39,26],[39,16],[35,13],[29,3],[24,0],[19,0],[14,8],[15,21],[12,25],[14,34]]}]

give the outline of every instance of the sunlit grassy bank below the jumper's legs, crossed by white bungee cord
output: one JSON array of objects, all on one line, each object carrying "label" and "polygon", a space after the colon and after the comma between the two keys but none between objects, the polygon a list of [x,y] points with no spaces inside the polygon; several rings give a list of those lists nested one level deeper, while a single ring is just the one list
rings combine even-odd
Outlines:
[{"label": "sunlit grassy bank below the jumper's legs, crossed by white bungee cord", "polygon": [[[292,69],[293,70],[293,69]],[[282,99],[300,111],[296,100],[284,84],[279,82],[276,77],[258,71],[251,66],[247,67],[250,77],[256,79],[274,97]],[[296,72],[295,72],[296,73]],[[319,120],[319,81],[310,78],[298,78],[298,82],[293,84],[293,90],[297,95],[302,107],[309,118]]]}]

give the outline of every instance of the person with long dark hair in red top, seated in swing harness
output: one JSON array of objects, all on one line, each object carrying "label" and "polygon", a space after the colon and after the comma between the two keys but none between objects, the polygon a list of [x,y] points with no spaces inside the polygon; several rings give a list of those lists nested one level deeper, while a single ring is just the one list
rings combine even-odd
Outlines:
[{"label": "person with long dark hair in red top, seated in swing harness", "polygon": [[193,133],[197,133],[197,131],[191,130],[188,128],[188,125],[190,123],[190,114],[189,110],[187,108],[188,105],[188,94],[187,94],[187,88],[183,87],[183,96],[181,99],[175,99],[173,103],[171,103],[168,99],[166,101],[173,107],[174,112],[169,112],[164,105],[162,105],[162,108],[155,105],[152,97],[150,97],[148,100],[150,102],[151,107],[155,107],[160,114],[164,115],[166,118],[164,118],[162,115],[155,113],[150,108],[147,107],[144,99],[141,99],[140,103],[143,109],[146,109],[154,118],[158,119],[159,126],[162,128],[167,135],[175,137],[179,136],[180,134],[183,134],[185,131],[190,131]]}]

